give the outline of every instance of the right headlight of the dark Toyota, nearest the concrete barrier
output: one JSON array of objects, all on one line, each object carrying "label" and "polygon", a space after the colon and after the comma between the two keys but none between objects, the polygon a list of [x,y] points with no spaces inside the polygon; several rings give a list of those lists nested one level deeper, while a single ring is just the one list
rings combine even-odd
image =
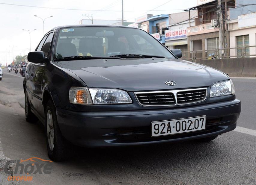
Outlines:
[{"label": "right headlight of the dark Toyota, nearest the concrete barrier", "polygon": [[235,94],[235,87],[232,80],[213,84],[210,90],[210,97]]}]

